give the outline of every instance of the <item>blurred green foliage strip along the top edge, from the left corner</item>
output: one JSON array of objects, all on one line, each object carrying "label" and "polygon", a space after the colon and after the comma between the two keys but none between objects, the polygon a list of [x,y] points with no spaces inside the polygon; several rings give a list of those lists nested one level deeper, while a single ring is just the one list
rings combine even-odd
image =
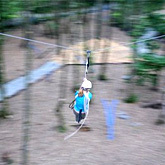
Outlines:
[{"label": "blurred green foliage strip along the top edge, from the left corner", "polygon": [[[27,11],[31,11],[33,13],[54,13],[62,10],[70,9],[78,9],[83,7],[88,7],[94,5],[96,0],[33,0],[27,1],[28,8]],[[20,17],[21,12],[25,11],[25,2],[21,0],[2,0],[0,1],[0,13],[1,18],[3,20],[9,20],[11,18]],[[1,20],[0,20],[1,21]]]}]

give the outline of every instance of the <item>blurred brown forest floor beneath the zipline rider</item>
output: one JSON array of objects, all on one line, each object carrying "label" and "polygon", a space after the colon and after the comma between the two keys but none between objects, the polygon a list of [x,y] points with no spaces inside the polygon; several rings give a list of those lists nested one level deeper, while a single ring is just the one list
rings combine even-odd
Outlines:
[{"label": "blurred brown forest floor beneath the zipline rider", "polygon": [[[36,30],[36,29],[35,29]],[[11,31],[11,34],[20,35],[20,30]],[[38,40],[53,43],[53,39],[36,36]],[[123,45],[121,42],[130,42],[124,32],[113,28],[113,40],[117,44],[116,51]],[[120,45],[121,44],[121,45]],[[6,62],[7,81],[24,74],[24,55],[26,50],[19,47],[20,41],[6,39],[4,53]],[[64,43],[67,45],[67,43]],[[121,47],[120,47],[121,46]],[[39,46],[38,46],[39,47]],[[74,47],[74,46],[73,46]],[[44,46],[39,47],[45,49]],[[116,56],[111,54],[108,62],[120,61],[123,53],[128,53],[124,60],[129,59],[130,50],[120,52]],[[43,58],[33,59],[32,68],[35,69],[49,60],[56,60],[55,52]],[[35,52],[33,52],[35,55]],[[101,55],[101,54],[100,54]],[[99,56],[99,55],[98,55]],[[113,57],[113,58],[111,58]],[[116,58],[115,58],[116,57]],[[128,58],[128,59],[127,59]],[[114,60],[112,60],[114,59]],[[123,60],[123,62],[125,62]],[[61,62],[61,61],[58,61]],[[65,61],[66,62],[66,61]],[[99,61],[97,61],[99,62]],[[67,62],[66,62],[67,63]],[[129,73],[129,64],[108,64],[106,74],[107,81],[97,79],[100,65],[91,66],[93,73],[89,73],[88,79],[93,83],[93,99],[90,104],[89,116],[86,124],[90,131],[79,131],[68,140],[64,138],[75,131],[74,115],[68,108],[73,100],[72,87],[75,78],[81,83],[84,76],[83,66],[69,65],[53,73],[51,81],[43,79],[31,86],[31,115],[29,132],[29,164],[31,165],[164,165],[165,162],[165,127],[155,125],[160,110],[142,108],[146,102],[159,101],[160,91],[152,91],[149,86],[130,86],[122,79]],[[75,75],[79,70],[79,75]],[[67,131],[59,133],[56,129],[58,117],[55,107],[60,92],[60,77],[65,74],[65,104],[62,108]],[[128,92],[134,90],[140,100],[134,104],[123,102]],[[21,164],[22,160],[22,118],[25,110],[25,91],[9,98],[9,108],[13,115],[5,120],[0,120],[0,156],[9,152],[14,165]],[[107,139],[107,125],[101,99],[119,100],[116,108],[115,138]],[[121,119],[117,116],[125,112],[130,118]],[[0,160],[0,165],[4,162]]]}]

